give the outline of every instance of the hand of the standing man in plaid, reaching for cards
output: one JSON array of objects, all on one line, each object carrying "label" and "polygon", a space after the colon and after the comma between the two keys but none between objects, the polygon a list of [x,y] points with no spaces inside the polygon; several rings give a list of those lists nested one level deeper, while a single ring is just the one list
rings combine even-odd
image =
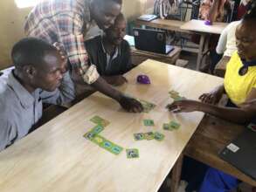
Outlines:
[{"label": "hand of the standing man in plaid, reaching for cards", "polygon": [[138,100],[126,95],[121,96],[119,103],[128,112],[141,113],[143,111],[143,106]]}]

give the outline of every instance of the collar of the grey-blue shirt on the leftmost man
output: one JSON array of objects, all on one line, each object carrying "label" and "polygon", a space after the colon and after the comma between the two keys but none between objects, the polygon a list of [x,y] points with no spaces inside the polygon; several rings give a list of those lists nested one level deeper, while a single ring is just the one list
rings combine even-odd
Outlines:
[{"label": "collar of the grey-blue shirt on the leftmost man", "polygon": [[8,76],[7,85],[10,86],[13,92],[17,95],[17,98],[20,100],[20,103],[24,108],[33,106],[35,99],[39,99],[38,90],[33,93],[29,93],[14,77],[13,71],[11,71]]}]

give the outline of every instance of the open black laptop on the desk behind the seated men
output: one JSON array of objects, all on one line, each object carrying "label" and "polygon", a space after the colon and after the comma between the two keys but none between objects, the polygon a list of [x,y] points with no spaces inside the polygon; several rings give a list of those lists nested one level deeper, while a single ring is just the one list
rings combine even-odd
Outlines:
[{"label": "open black laptop on the desk behind the seated men", "polygon": [[166,45],[165,31],[134,28],[135,48],[142,51],[151,51],[168,54],[174,46]]}]

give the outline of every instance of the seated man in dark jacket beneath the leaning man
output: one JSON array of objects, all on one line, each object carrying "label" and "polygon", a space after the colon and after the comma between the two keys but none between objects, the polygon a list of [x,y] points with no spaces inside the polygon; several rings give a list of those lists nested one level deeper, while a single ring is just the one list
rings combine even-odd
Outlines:
[{"label": "seated man in dark jacket beneath the leaning man", "polygon": [[121,75],[134,67],[130,47],[123,39],[125,30],[126,20],[120,14],[114,24],[104,31],[103,37],[97,36],[85,42],[90,61],[96,65],[100,76],[114,86],[125,83],[127,80]]}]

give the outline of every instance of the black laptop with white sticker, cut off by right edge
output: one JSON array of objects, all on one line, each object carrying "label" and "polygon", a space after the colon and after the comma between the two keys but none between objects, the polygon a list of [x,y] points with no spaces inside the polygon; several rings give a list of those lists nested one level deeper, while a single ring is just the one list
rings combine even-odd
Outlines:
[{"label": "black laptop with white sticker, cut off by right edge", "polygon": [[227,145],[219,156],[256,179],[256,132],[246,128],[237,139]]}]

